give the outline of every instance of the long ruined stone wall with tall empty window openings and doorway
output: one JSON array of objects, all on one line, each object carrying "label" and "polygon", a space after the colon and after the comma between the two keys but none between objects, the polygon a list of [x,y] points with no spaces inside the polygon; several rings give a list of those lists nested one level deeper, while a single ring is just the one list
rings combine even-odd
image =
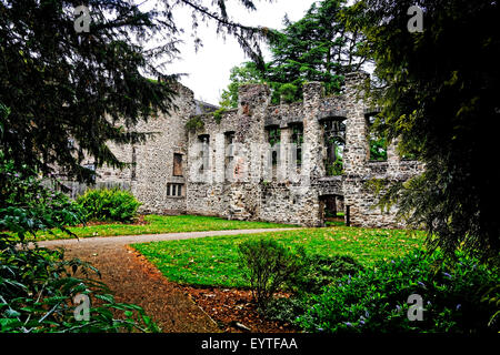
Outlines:
[{"label": "long ruined stone wall with tall empty window openings and doorway", "polygon": [[[343,196],[338,205],[348,206],[351,225],[398,227],[396,210],[382,212],[374,206],[376,197],[366,186],[371,179],[403,180],[421,171],[417,162],[401,162],[389,148],[387,162],[369,161],[367,108],[359,88],[369,79],[363,72],[347,75],[343,94],[326,98],[320,83],[303,88],[303,102],[270,105],[267,85],[240,88],[239,108],[222,114],[217,122],[212,114],[200,115],[203,126],[189,132],[188,213],[221,215],[229,219],[263,220],[320,226],[324,223],[324,196]],[[344,173],[326,176],[327,149],[322,122],[344,119]],[[301,124],[302,162],[296,166],[291,142],[293,126]],[[280,130],[280,143],[270,146],[268,130]],[[234,134],[241,160],[242,176],[227,181],[224,136]],[[199,138],[210,136],[210,166],[204,178],[196,166]],[[271,161],[276,151],[276,164]],[[233,169],[234,170],[234,169]],[[237,169],[238,170],[238,169]],[[346,209],[347,210],[347,209]]]}]

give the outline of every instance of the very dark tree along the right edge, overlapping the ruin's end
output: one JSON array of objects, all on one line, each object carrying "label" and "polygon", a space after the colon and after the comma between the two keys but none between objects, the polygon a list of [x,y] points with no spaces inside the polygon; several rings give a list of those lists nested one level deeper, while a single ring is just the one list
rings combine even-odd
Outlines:
[{"label": "very dark tree along the right edge, overlapping the ruin's end", "polygon": [[[393,185],[386,202],[424,226],[432,247],[498,257],[500,170],[500,18],[498,1],[420,0],[422,31],[413,30],[413,0],[357,4],[376,77],[379,129],[417,152],[426,172]],[[410,14],[408,14],[410,12]],[[409,23],[410,22],[410,23]],[[410,26],[409,26],[410,24]]]}]

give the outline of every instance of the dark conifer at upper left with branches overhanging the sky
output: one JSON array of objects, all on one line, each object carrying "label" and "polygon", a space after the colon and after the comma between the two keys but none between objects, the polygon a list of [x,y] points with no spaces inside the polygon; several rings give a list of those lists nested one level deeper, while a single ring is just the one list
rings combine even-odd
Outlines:
[{"label": "dark conifer at upper left with branches overhanging the sky", "polygon": [[[127,129],[153,111],[174,109],[176,75],[159,60],[178,54],[177,7],[191,9],[197,44],[200,21],[214,21],[262,63],[258,41],[264,29],[233,22],[224,0],[206,2],[0,0],[0,103],[10,112],[0,122],[4,159],[44,174],[58,165],[87,181],[93,172],[80,165],[84,155],[98,165],[123,166],[108,142],[143,141],[147,134]],[[251,0],[239,2],[256,9]],[[81,4],[90,10],[88,29],[84,13],[74,14]],[[152,42],[158,44],[150,48]]]}]

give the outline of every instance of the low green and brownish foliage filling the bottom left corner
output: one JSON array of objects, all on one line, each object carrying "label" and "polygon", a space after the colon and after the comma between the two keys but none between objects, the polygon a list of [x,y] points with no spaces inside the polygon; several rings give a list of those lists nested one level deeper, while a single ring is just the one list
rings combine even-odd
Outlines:
[{"label": "low green and brownish foliage filling the bottom left corner", "polygon": [[[158,332],[143,310],[117,303],[99,275],[61,251],[19,246],[0,236],[0,333]],[[77,295],[94,300],[88,321],[74,316]]]}]

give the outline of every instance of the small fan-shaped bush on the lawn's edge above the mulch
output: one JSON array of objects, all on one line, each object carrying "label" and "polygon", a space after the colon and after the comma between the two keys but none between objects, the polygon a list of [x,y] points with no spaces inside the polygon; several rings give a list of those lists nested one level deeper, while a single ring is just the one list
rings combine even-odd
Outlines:
[{"label": "small fan-shaped bush on the lawn's edge above the mulch", "polygon": [[266,308],[272,295],[301,268],[300,261],[278,242],[260,239],[239,245],[243,277],[250,283],[252,295]]}]

